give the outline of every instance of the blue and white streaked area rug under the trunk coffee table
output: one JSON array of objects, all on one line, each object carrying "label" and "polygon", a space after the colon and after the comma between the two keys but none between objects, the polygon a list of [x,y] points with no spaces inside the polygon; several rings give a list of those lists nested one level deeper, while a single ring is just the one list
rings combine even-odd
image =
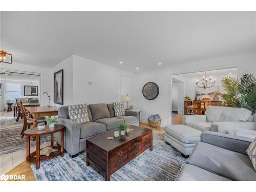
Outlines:
[{"label": "blue and white streaked area rug under the trunk coffee table", "polygon": [[[153,131],[153,151],[145,151],[111,176],[111,181],[174,181],[186,163],[175,148],[167,145],[164,134]],[[86,166],[86,153],[75,158],[68,153],[31,165],[37,181],[104,181],[92,166]]]}]

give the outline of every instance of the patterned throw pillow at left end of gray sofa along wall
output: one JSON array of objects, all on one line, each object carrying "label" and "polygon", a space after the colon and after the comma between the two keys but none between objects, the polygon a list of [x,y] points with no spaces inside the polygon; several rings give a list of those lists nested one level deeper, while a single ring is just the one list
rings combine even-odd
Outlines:
[{"label": "patterned throw pillow at left end of gray sofa along wall", "polygon": [[69,119],[77,123],[90,122],[87,104],[68,105]]}]

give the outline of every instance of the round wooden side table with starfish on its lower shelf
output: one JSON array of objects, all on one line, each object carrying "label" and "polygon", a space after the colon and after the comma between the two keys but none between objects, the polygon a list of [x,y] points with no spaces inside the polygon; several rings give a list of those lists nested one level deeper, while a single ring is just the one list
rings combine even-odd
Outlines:
[{"label": "round wooden side table with starfish on its lower shelf", "polygon": [[[65,126],[62,124],[55,124],[54,127],[46,126],[45,130],[38,131],[37,127],[28,129],[24,132],[24,135],[27,136],[27,162],[36,162],[36,169],[40,168],[40,161],[46,161],[49,159],[52,159],[58,155],[61,155],[63,157],[64,154],[64,129]],[[57,146],[53,146],[53,134],[61,132],[61,143],[60,145],[57,144]],[[40,157],[40,136],[42,135],[51,135],[51,147],[54,149],[57,149],[56,152],[50,153],[50,155],[47,157],[45,155],[42,155]],[[36,151],[30,154],[30,137],[36,137]]]}]

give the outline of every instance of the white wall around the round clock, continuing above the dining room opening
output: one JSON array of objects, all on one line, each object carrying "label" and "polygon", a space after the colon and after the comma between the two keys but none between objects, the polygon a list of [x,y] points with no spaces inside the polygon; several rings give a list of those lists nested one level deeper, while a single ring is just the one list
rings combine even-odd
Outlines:
[{"label": "white wall around the round clock, continuing above the dining room opening", "polygon": [[[136,108],[142,110],[141,120],[146,121],[148,115],[157,113],[162,118],[161,126],[170,124],[171,79],[174,74],[238,67],[238,77],[241,77],[243,73],[254,73],[256,76],[255,65],[255,53],[251,53],[177,64],[175,67],[137,73],[135,77],[135,105]],[[141,93],[144,84],[150,81],[156,82],[160,89],[159,96],[154,100],[145,99]]]}]

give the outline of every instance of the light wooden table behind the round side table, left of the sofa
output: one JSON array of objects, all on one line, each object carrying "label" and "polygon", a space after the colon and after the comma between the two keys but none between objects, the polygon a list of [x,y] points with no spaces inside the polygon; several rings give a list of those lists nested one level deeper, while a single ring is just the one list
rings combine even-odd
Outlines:
[{"label": "light wooden table behind the round side table, left of the sofa", "polygon": [[33,127],[37,127],[38,117],[58,115],[58,108],[56,106],[29,106],[26,110],[33,115]]}]

